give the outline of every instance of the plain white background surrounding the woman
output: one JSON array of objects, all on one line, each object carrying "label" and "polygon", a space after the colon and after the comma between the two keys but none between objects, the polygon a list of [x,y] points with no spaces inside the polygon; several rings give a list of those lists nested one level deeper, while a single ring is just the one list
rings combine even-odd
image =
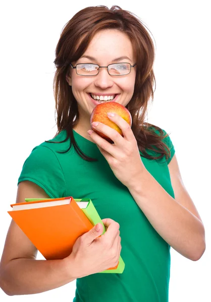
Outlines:
[{"label": "plain white background surrounding the woman", "polygon": [[[64,25],[87,6],[119,5],[135,13],[156,42],[156,90],[148,121],[167,132],[184,184],[206,231],[206,251],[193,262],[171,248],[170,302],[210,301],[210,15],[209,1],[7,1],[1,22],[0,257],[17,181],[34,146],[57,131],[52,80]],[[21,244],[21,243],[20,243]],[[209,257],[208,257],[209,255]],[[39,255],[38,259],[42,259]],[[24,278],[24,276],[23,276]],[[208,281],[209,280],[209,281]],[[140,280],[141,282],[141,280]],[[72,301],[75,283],[44,293],[7,296],[3,302]],[[162,301],[161,301],[162,302]]]}]

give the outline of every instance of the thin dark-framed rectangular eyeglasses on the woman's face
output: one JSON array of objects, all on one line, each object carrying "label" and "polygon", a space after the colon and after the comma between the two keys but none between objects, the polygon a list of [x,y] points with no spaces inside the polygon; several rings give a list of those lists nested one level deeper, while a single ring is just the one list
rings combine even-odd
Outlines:
[{"label": "thin dark-framed rectangular eyeglasses on the woman's face", "polygon": [[76,73],[78,75],[84,75],[85,77],[91,77],[92,75],[97,75],[99,73],[100,68],[107,68],[110,75],[125,75],[129,74],[131,71],[131,67],[134,67],[134,65],[131,65],[130,63],[115,63],[115,64],[109,64],[108,66],[99,66],[97,64],[89,64],[89,63],[82,63],[82,64],[76,64],[75,67],[70,63],[72,68],[76,69]]}]

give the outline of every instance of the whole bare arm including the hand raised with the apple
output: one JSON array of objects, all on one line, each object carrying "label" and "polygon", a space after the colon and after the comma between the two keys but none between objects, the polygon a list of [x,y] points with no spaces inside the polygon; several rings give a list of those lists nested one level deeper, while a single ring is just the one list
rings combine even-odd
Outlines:
[{"label": "whole bare arm including the hand raised with the apple", "polygon": [[95,131],[89,134],[91,139],[156,232],[180,254],[198,260],[205,251],[204,226],[183,185],[176,156],[169,165],[174,199],[144,167],[130,125],[118,114],[109,118],[122,129],[123,136],[99,122],[94,128],[110,137],[114,144]]}]

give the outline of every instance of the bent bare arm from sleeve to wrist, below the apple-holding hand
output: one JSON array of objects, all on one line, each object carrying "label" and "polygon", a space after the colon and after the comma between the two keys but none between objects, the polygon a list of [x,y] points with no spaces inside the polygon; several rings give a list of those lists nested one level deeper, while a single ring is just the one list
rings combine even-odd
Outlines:
[{"label": "bent bare arm from sleeve to wrist, below the apple-holding hand", "polygon": [[182,182],[176,155],[168,167],[175,199],[146,169],[128,189],[157,233],[181,255],[196,261],[205,251],[204,226]]}]

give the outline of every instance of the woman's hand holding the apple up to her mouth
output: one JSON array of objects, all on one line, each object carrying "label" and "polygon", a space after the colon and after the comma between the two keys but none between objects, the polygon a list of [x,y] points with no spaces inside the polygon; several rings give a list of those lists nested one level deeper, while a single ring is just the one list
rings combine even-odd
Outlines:
[{"label": "woman's hand holding the apple up to her mouth", "polygon": [[94,131],[88,134],[107,160],[115,176],[129,188],[133,186],[137,177],[140,177],[145,167],[130,125],[118,114],[115,114],[114,117],[108,115],[108,117],[120,127],[123,136],[115,129],[100,122],[98,122],[98,125],[93,122],[92,127],[110,137],[114,144],[111,144]]}]

